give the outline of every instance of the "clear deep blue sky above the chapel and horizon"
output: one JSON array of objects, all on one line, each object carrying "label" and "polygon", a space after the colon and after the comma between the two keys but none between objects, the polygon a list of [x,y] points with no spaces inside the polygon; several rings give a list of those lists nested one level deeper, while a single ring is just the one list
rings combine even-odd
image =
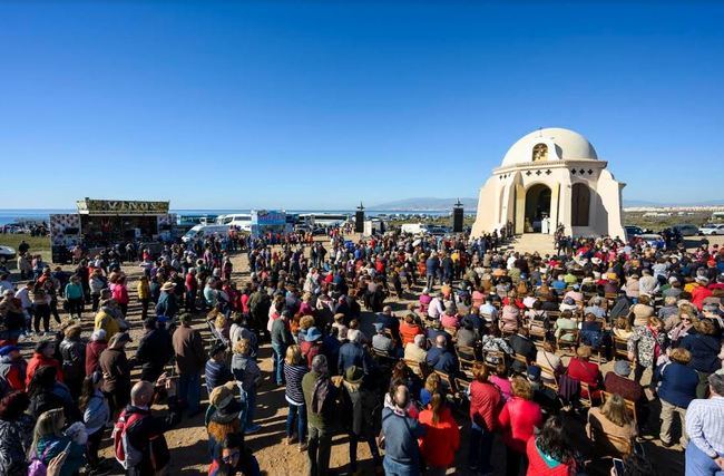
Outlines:
[{"label": "clear deep blue sky above the chapel and horizon", "polygon": [[538,127],[587,136],[625,200],[724,198],[722,18],[715,1],[2,2],[0,207],[477,196]]}]

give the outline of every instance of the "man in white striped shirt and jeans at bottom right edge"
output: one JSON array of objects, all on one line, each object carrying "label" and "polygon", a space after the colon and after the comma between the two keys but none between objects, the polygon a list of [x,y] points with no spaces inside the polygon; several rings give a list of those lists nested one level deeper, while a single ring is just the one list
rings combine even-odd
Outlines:
[{"label": "man in white striped shirt and jeans at bottom right edge", "polygon": [[686,475],[724,473],[724,376],[708,377],[711,397],[694,399],[686,409]]}]

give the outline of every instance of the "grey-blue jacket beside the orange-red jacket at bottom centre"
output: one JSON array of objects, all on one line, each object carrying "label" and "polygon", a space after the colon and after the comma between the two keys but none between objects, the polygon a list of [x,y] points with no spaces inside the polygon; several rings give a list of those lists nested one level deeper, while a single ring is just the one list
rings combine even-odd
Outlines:
[{"label": "grey-blue jacket beside the orange-red jacket at bottom centre", "polygon": [[390,408],[382,409],[384,457],[394,463],[417,468],[420,464],[418,438],[423,436],[422,426],[414,418],[400,416]]}]

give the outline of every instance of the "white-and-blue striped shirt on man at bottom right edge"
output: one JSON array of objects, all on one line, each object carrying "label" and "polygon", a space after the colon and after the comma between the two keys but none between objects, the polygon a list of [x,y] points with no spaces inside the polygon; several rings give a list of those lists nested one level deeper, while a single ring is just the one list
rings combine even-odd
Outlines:
[{"label": "white-and-blue striped shirt on man at bottom right edge", "polygon": [[724,455],[724,397],[692,400],[686,409],[686,433],[711,458]]}]

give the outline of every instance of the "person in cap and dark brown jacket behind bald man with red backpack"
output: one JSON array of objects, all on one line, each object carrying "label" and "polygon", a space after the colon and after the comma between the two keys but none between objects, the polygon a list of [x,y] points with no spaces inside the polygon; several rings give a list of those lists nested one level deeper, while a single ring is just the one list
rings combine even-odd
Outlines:
[{"label": "person in cap and dark brown jacket behind bald man with red backpack", "polygon": [[115,415],[128,404],[130,391],[130,365],[126,358],[126,343],[133,342],[128,333],[118,332],[108,341],[108,347],[98,358],[104,373],[102,391],[108,398],[110,414]]}]

